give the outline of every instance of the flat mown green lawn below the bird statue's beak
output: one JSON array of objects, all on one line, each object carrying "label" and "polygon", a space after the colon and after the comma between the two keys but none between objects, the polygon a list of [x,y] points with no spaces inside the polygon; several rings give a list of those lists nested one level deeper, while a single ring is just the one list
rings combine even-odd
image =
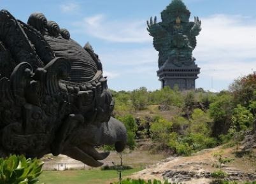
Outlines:
[{"label": "flat mown green lawn below the bird statue's beak", "polygon": [[[129,176],[141,169],[129,169],[122,176]],[[73,170],[73,171],[43,171],[39,177],[39,183],[45,184],[110,184],[118,181],[117,171],[101,171],[100,169]]]}]

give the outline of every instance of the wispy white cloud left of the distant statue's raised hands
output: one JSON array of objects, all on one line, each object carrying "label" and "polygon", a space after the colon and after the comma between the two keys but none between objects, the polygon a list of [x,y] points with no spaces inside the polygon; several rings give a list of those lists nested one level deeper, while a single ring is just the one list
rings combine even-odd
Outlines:
[{"label": "wispy white cloud left of the distant statue's raised hands", "polygon": [[85,17],[74,25],[86,34],[107,41],[144,43],[152,40],[146,31],[145,20],[106,20],[104,15],[94,15]]}]

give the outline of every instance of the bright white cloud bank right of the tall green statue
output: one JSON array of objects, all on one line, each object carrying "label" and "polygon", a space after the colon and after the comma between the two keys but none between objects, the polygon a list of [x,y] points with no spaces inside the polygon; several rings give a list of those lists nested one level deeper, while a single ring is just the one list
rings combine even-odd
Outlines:
[{"label": "bright white cloud bank right of the tall green statue", "polygon": [[201,76],[234,80],[256,69],[256,22],[248,17],[213,15],[202,18],[193,55]]}]

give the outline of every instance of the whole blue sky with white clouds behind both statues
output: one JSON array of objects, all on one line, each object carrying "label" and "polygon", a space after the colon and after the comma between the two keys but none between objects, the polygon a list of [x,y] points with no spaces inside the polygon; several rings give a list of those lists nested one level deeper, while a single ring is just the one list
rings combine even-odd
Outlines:
[{"label": "whole blue sky with white clouds behind both statues", "polygon": [[[184,0],[191,20],[202,20],[193,52],[201,74],[196,87],[227,89],[234,79],[256,71],[255,0]],[[87,41],[99,54],[113,90],[160,88],[158,52],[146,31],[146,20],[171,0],[0,0],[0,8],[27,22],[35,11],[69,30],[80,45]]]}]

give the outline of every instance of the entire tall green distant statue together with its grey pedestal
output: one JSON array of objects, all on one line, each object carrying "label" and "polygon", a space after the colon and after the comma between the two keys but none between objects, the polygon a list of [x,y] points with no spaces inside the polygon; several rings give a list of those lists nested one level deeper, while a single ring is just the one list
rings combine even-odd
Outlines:
[{"label": "entire tall green distant statue together with its grey pedestal", "polygon": [[157,17],[150,18],[148,32],[153,37],[153,46],[159,51],[159,71],[162,87],[174,85],[183,89],[195,88],[199,74],[192,51],[196,47],[196,36],[201,31],[201,21],[195,17],[189,22],[190,11],[181,0],[173,0],[161,13],[162,22]]}]

